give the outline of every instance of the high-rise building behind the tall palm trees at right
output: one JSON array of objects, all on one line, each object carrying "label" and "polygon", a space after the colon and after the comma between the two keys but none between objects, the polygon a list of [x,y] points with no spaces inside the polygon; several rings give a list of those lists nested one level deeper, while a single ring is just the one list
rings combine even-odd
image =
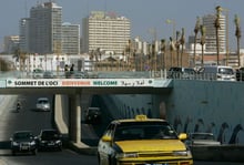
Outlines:
[{"label": "high-rise building behind the tall palm trees at right", "polygon": [[[216,16],[207,14],[202,18],[203,25],[206,28],[206,38],[205,38],[205,51],[206,53],[215,53],[216,52],[216,29],[214,27]],[[220,52],[226,52],[226,22],[225,16],[220,17],[220,25],[218,29],[218,45]]]}]

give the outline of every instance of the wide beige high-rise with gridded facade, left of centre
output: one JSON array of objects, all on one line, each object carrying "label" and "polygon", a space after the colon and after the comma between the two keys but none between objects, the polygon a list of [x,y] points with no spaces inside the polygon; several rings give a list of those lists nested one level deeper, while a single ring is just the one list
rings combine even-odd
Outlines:
[{"label": "wide beige high-rise with gridded facade, left of centre", "polygon": [[131,23],[125,17],[103,11],[92,11],[82,22],[82,51],[98,49],[122,54],[131,38]]}]

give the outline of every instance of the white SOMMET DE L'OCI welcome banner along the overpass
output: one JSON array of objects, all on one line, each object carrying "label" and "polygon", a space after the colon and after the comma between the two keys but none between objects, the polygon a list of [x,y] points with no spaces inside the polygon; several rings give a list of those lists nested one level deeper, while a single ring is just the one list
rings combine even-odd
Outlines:
[{"label": "white SOMMET DE L'OCI welcome banner along the overpass", "polygon": [[7,87],[153,86],[153,79],[8,79]]}]

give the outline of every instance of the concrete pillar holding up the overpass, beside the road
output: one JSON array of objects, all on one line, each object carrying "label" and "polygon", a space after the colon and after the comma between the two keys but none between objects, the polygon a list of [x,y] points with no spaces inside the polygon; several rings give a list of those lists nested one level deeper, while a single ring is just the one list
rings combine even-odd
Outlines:
[{"label": "concrete pillar holding up the overpass, beside the road", "polygon": [[80,93],[72,94],[69,97],[70,103],[70,120],[69,120],[69,135],[70,141],[74,143],[81,142],[81,95]]}]

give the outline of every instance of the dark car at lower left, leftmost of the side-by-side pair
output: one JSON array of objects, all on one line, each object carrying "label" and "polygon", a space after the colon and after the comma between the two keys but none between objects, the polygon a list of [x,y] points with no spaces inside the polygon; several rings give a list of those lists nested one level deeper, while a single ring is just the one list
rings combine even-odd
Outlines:
[{"label": "dark car at lower left, leftmost of the side-by-side pair", "polygon": [[35,136],[31,131],[17,131],[10,137],[12,155],[17,153],[37,154]]}]

